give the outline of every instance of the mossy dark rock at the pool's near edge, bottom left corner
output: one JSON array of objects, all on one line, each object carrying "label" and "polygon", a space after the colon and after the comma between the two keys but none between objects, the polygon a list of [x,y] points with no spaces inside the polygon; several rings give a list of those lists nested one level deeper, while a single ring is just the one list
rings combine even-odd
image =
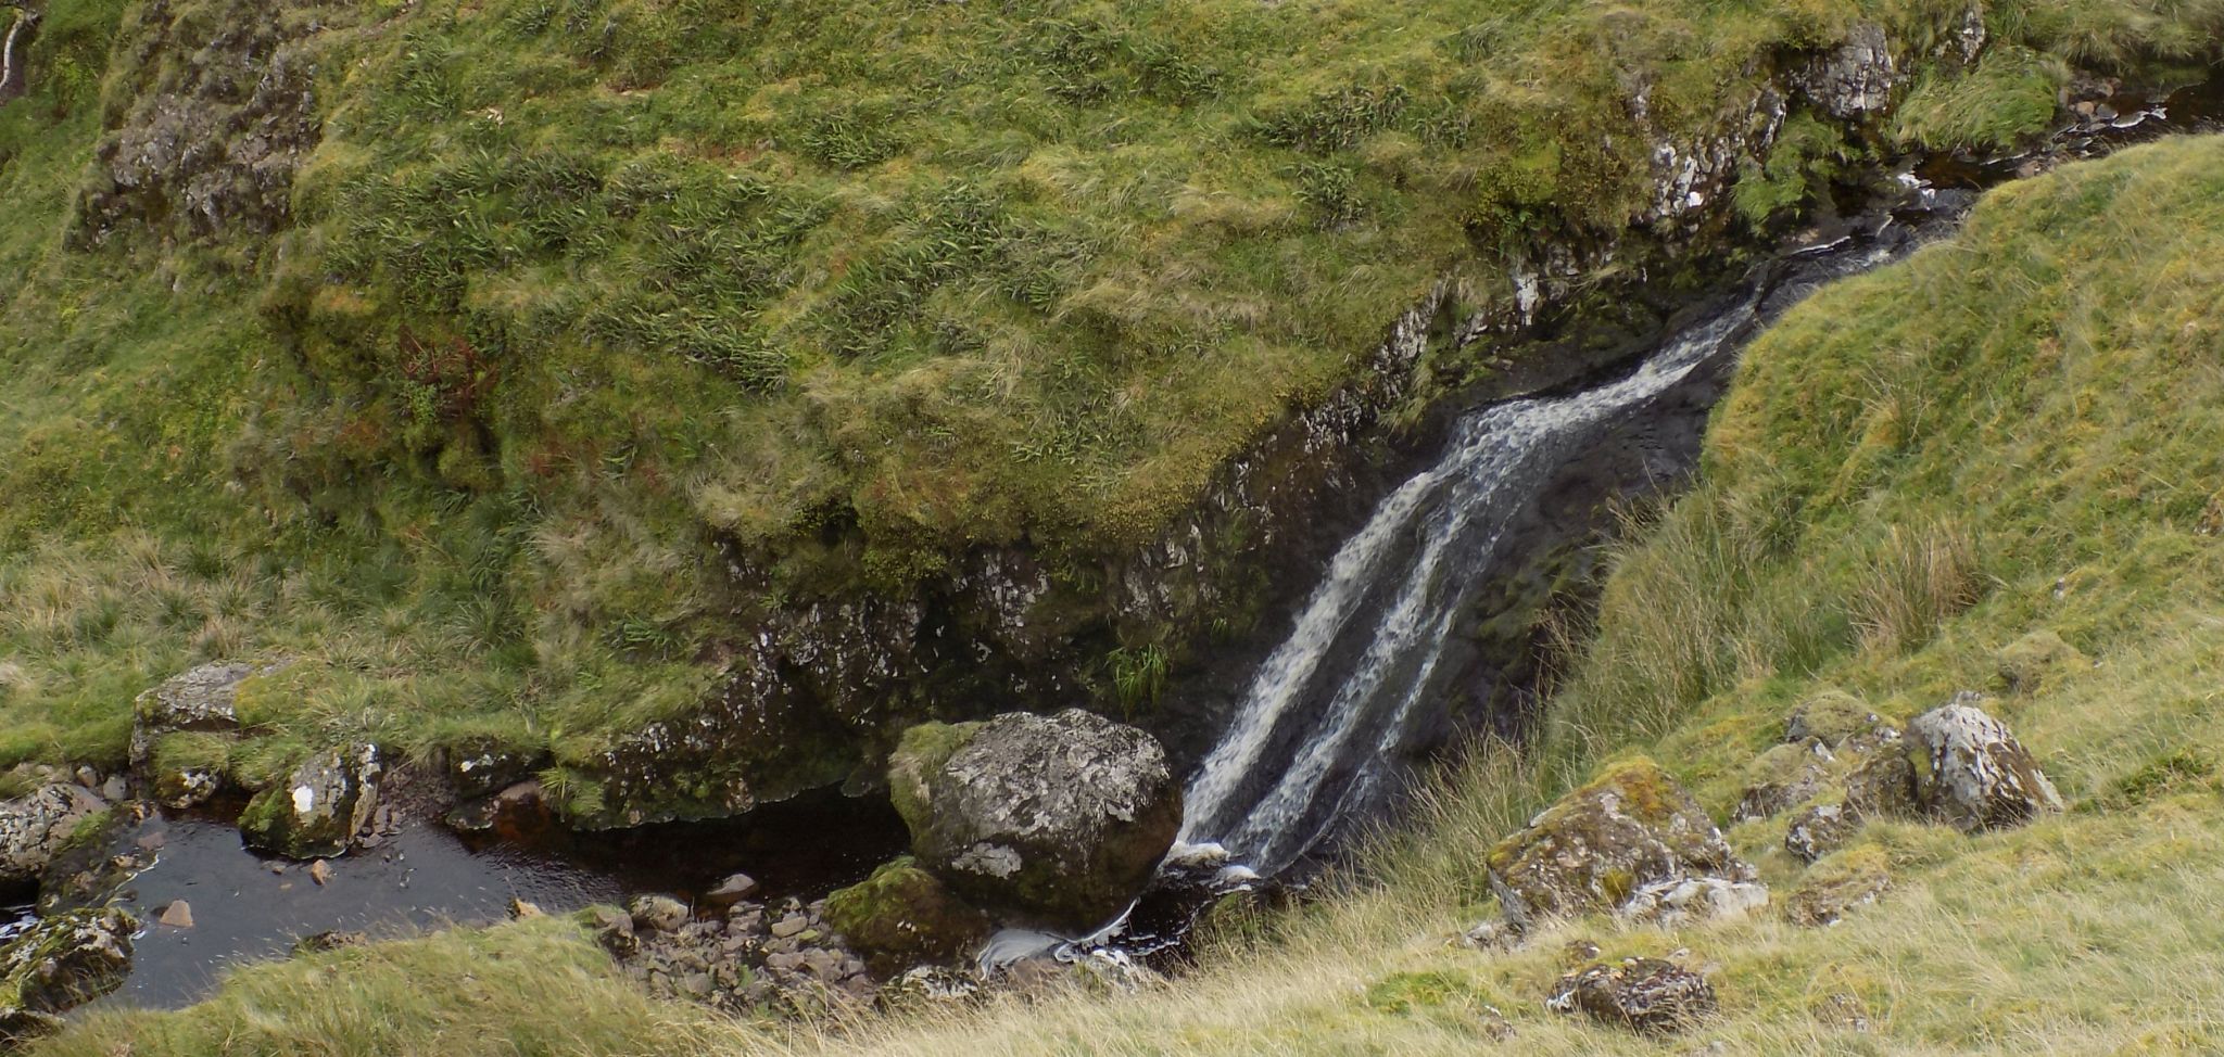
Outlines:
[{"label": "mossy dark rock at the pool's near edge, bottom left corner", "polygon": [[131,973],[133,933],[138,919],[109,906],[47,917],[0,946],[0,1033],[116,990]]}]

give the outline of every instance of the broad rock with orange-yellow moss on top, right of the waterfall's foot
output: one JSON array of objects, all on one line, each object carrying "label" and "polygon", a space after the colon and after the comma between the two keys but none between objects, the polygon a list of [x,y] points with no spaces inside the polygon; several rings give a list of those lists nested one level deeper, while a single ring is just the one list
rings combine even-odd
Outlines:
[{"label": "broad rock with orange-yellow moss on top, right of the waterfall's foot", "polygon": [[1568,793],[1488,857],[1490,886],[1515,926],[1621,908],[1637,890],[1688,877],[1753,882],[1721,830],[1659,764],[1610,766]]}]

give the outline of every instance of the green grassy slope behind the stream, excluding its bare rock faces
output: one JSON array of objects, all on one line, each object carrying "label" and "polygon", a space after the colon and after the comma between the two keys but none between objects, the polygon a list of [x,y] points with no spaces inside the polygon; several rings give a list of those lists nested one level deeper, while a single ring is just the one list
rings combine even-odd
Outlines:
[{"label": "green grassy slope behind the stream, excluding its bare rock faces", "polygon": [[[44,7],[33,93],[0,109],[0,764],[111,762],[138,688],[302,655],[258,695],[247,777],[365,735],[585,757],[698,702],[705,640],[758,602],[714,597],[714,533],[778,555],[767,602],[965,542],[1143,535],[1477,242],[1617,229],[1644,178],[1626,84],[1688,129],[1750,60],[1855,18],[338,4],[282,246],[80,253],[71,191],[129,104],[102,71],[140,7]],[[1917,40],[1962,11],[1861,9]],[[2202,53],[2224,4],[1990,20],[1997,62],[1926,73],[1902,135],[2028,133],[2064,58]],[[1797,202],[1830,149],[1741,202]],[[830,520],[870,546],[827,553]]]}]

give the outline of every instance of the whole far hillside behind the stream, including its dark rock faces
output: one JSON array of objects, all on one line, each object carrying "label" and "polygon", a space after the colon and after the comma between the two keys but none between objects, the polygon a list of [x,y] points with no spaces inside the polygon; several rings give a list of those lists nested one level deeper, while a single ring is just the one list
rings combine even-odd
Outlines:
[{"label": "whole far hillside behind the stream, including its dark rock faces", "polygon": [[[1288,435],[1310,409],[1368,426],[1330,444],[1361,451],[1499,369],[1437,333],[1410,382],[1379,371],[1399,313],[1526,315],[1570,246],[1570,313],[1624,311],[1637,275],[1704,284],[1855,162],[2022,142],[2073,67],[2193,62],[2224,20],[27,11],[0,109],[0,766],[113,768],[147,686],[294,657],[251,737],[169,762],[254,791],[345,742],[494,746],[583,824],[832,786],[921,717],[1148,711],[1259,624],[1285,560],[1263,506],[1208,502],[1230,466],[1299,482],[1303,513],[1339,480],[1288,455],[1321,446]],[[1855,69],[1786,115],[1786,78],[1861,27],[1886,84]],[[687,724],[714,733],[661,753]]]}]

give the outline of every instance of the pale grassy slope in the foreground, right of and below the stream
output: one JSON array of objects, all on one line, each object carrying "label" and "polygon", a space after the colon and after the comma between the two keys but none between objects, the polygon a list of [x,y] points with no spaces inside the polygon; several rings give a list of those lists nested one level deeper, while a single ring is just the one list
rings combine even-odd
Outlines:
[{"label": "pale grassy slope in the foreground, right of and below the stream", "polygon": [[[1699,489],[1621,557],[1541,762],[1454,768],[1386,842],[1379,884],[1223,937],[1136,997],[990,1006],[838,1035],[641,1006],[547,924],[349,953],[476,977],[518,944],[567,966],[560,1030],[507,1006],[374,1028],[389,984],[329,962],[240,973],[176,1015],[100,1015],[49,1055],[342,1053],[1470,1053],[1483,1004],[1521,1053],[2215,1053],[2224,1048],[2224,138],[2173,140],[1995,191],[1955,240],[1824,291],[1750,353]],[[1597,759],[1644,748],[1726,815],[1781,715],[1848,688],[1906,717],[1999,688],[1999,651],[2048,628],[2091,662],[1990,708],[2042,757],[2064,817],[1984,837],[1873,824],[1801,870],[1781,822],[1730,839],[1786,897],[1884,859],[1893,893],[1828,930],[1773,917],[1686,930],[1586,919],[1510,955],[1450,939],[1488,913],[1479,859]],[[496,939],[496,937],[514,939]],[[1563,942],[1692,950],[1724,1017],[1697,1039],[1557,1019]],[[487,966],[507,975],[516,964]],[[427,977],[429,975],[429,977]],[[503,977],[507,979],[507,977]],[[1873,1030],[1813,1010],[1857,995]],[[600,1017],[656,1021],[596,1037]],[[487,1026],[498,1026],[487,1030]],[[545,1033],[529,1039],[509,1030]]]}]

